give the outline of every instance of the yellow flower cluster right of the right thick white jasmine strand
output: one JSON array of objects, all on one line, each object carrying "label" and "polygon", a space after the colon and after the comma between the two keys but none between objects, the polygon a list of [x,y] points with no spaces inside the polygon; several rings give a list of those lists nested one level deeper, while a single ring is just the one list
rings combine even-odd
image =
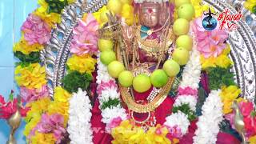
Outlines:
[{"label": "yellow flower cluster right of the right thick white jasmine strand", "polygon": [[223,113],[229,114],[232,112],[232,104],[235,99],[238,98],[238,95],[241,93],[241,90],[238,89],[238,86],[223,86],[222,92],[220,93],[220,97],[222,98],[223,102]]}]

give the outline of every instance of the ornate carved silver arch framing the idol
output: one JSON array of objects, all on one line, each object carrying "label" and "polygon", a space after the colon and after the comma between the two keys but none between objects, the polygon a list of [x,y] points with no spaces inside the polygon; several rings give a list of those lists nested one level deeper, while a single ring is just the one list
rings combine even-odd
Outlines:
[{"label": "ornate carved silver arch framing the idol", "polygon": [[[234,0],[236,1],[236,0]],[[230,2],[234,4],[235,2]],[[107,0],[93,0],[85,6],[82,0],[78,0],[74,5],[67,6],[62,14],[62,22],[52,32],[52,38],[45,50],[41,52],[42,62],[46,66],[46,74],[50,94],[53,95],[55,86],[62,85],[62,78],[65,74],[66,60],[69,56],[70,38],[74,26],[77,25],[78,18],[89,12],[99,10],[106,4]],[[236,10],[230,3],[220,2],[217,0],[204,0],[204,3],[213,6],[218,12],[229,8],[232,14]],[[240,7],[241,8],[241,7]],[[248,10],[242,9],[243,14]],[[228,42],[231,45],[230,58],[234,61],[232,71],[236,74],[235,78],[238,86],[242,89],[242,96],[254,101],[256,86],[256,40],[250,27],[244,22],[234,22],[238,25],[238,30],[230,33]]]}]

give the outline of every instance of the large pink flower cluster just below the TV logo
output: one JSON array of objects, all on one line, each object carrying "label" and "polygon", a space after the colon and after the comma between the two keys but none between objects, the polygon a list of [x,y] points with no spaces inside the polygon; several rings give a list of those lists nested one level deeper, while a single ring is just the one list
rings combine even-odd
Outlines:
[{"label": "large pink flower cluster just below the TV logo", "polygon": [[192,29],[197,38],[198,51],[205,58],[218,57],[219,54],[222,54],[222,50],[226,48],[226,43],[224,42],[228,38],[228,33],[225,30],[205,30],[202,27],[202,18],[194,20]]}]

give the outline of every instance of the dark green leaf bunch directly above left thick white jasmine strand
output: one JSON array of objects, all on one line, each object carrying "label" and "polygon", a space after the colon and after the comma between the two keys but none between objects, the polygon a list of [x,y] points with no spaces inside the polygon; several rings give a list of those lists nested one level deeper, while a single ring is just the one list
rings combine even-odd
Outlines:
[{"label": "dark green leaf bunch directly above left thick white jasmine strand", "polygon": [[70,71],[69,74],[62,79],[63,87],[68,92],[74,93],[78,91],[78,88],[82,90],[88,90],[90,82],[92,81],[90,74],[81,74],[78,71]]}]

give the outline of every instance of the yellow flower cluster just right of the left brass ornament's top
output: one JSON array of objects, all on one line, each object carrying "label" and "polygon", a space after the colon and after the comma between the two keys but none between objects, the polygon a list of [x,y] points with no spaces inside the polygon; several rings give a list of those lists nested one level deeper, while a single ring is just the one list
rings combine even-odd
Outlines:
[{"label": "yellow flower cluster just right of the left brass ornament's top", "polygon": [[30,122],[32,118],[41,117],[41,114],[47,110],[47,107],[50,105],[50,98],[41,98],[38,101],[30,102],[26,104],[27,107],[30,107],[30,111],[27,112],[25,121]]}]

